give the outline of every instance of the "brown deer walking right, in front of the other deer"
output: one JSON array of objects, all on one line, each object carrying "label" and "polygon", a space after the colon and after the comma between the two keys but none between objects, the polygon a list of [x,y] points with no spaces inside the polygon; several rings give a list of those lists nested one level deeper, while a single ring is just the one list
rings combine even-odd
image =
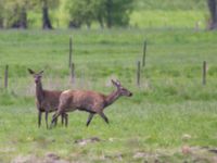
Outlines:
[{"label": "brown deer walking right, in front of the other deer", "polygon": [[61,93],[60,104],[56,113],[53,115],[51,127],[53,126],[58,116],[64,112],[72,112],[75,110],[89,112],[87,126],[90,124],[94,114],[99,114],[107,124],[108,118],[103,113],[103,110],[115,102],[120,96],[131,97],[132,93],[124,88],[119,82],[112,80],[117,88],[108,96],[95,91],[88,90],[66,90]]}]

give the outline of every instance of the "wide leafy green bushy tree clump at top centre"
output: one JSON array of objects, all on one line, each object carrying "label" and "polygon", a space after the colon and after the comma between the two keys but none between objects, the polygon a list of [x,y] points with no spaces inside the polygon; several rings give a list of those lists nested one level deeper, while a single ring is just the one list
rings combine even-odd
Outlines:
[{"label": "wide leafy green bushy tree clump at top centre", "polygon": [[131,3],[132,0],[67,0],[65,5],[74,27],[82,24],[90,27],[97,21],[101,27],[111,28],[128,25]]}]

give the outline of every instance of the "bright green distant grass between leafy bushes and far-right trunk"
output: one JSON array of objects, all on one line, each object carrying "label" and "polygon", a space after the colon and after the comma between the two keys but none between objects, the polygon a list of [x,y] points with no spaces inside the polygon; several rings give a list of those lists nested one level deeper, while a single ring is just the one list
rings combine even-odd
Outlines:
[{"label": "bright green distant grass between leafy bushes and far-right trunk", "polygon": [[208,11],[204,10],[143,10],[133,11],[130,25],[140,28],[205,28]]}]

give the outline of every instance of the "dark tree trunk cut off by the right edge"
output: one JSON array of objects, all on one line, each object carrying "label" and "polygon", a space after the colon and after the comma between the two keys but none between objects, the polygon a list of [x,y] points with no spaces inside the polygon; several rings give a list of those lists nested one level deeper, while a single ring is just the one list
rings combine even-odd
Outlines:
[{"label": "dark tree trunk cut off by the right edge", "polygon": [[217,29],[217,0],[207,0],[210,12],[210,21],[208,22],[209,29]]}]

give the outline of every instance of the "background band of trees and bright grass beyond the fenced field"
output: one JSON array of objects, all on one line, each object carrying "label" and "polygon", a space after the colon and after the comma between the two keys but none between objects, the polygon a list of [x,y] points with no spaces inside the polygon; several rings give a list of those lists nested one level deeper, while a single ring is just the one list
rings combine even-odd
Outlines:
[{"label": "background band of trees and bright grass beyond the fenced field", "polygon": [[[180,17],[183,18],[184,14],[182,21]],[[171,26],[171,18],[174,26],[201,24],[204,27],[209,21],[207,1],[0,0],[0,28]]]}]

